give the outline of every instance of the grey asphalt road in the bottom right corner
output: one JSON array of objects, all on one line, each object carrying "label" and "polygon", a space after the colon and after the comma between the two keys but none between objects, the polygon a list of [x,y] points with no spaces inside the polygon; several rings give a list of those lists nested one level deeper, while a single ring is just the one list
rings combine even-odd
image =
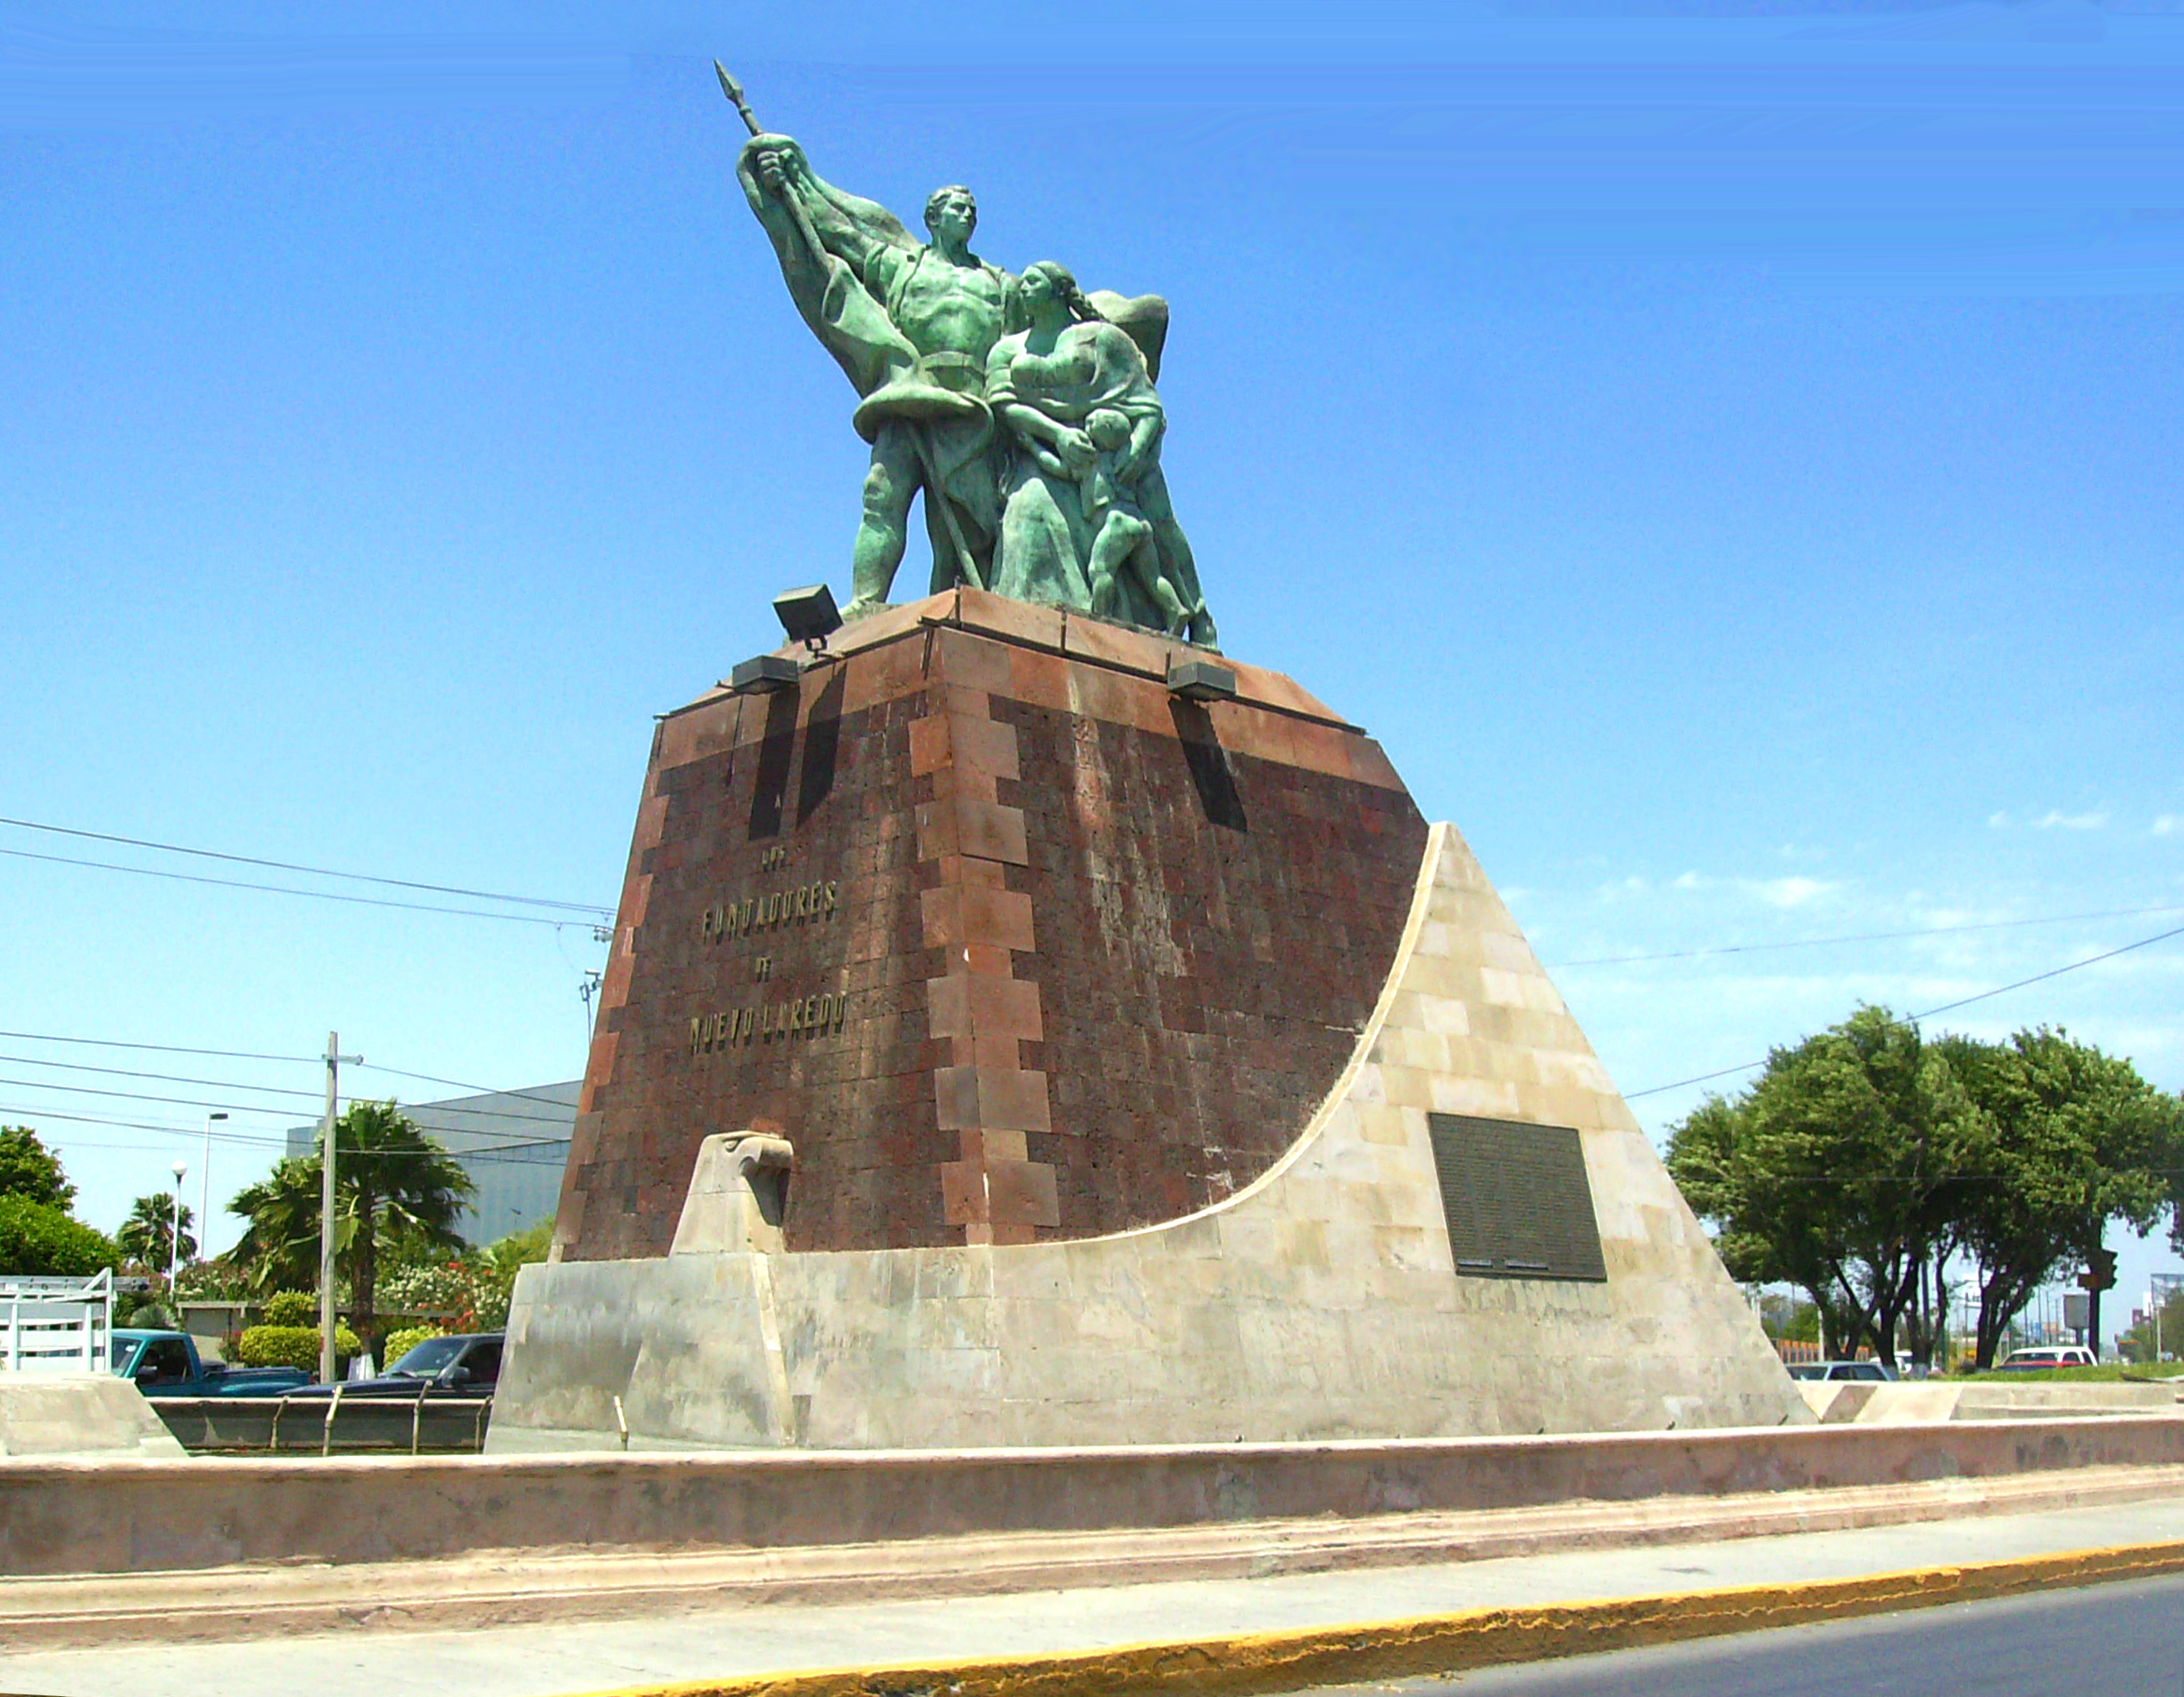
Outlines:
[{"label": "grey asphalt road in the bottom right corner", "polygon": [[2184,1577],[1310,1697],[2184,1697]]}]

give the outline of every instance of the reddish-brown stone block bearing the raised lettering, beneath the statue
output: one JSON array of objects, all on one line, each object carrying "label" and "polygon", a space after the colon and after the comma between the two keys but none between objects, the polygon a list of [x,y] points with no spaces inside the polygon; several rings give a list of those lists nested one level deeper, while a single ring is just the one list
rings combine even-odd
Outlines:
[{"label": "reddish-brown stone block bearing the raised lettering, beneath the statue", "polygon": [[555,1243],[662,1256],[699,1142],[797,1151],[791,1249],[1031,1243],[1219,1201],[1304,1131],[1426,826],[1278,673],[961,590],[662,721]]}]

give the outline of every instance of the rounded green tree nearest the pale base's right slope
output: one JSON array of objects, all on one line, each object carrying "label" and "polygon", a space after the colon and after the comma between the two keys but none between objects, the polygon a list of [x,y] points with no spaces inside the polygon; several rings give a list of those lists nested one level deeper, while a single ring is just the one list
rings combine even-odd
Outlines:
[{"label": "rounded green tree nearest the pale base's right slope", "polygon": [[1861,1007],[1710,1096],[1669,1140],[1669,1171],[1717,1225],[1732,1278],[1804,1289],[1837,1348],[1898,1337],[1931,1358],[1974,1112],[1915,1024]]}]

